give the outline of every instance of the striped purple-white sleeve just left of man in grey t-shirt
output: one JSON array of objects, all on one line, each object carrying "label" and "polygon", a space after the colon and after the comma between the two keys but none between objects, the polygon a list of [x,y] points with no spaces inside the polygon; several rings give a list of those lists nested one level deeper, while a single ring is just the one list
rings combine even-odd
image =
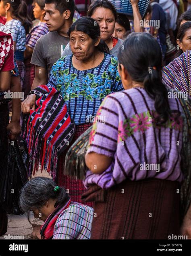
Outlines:
[{"label": "striped purple-white sleeve just left of man in grey t-shirt", "polygon": [[26,44],[28,47],[35,48],[37,40],[49,32],[46,23],[39,22],[27,35]]}]

